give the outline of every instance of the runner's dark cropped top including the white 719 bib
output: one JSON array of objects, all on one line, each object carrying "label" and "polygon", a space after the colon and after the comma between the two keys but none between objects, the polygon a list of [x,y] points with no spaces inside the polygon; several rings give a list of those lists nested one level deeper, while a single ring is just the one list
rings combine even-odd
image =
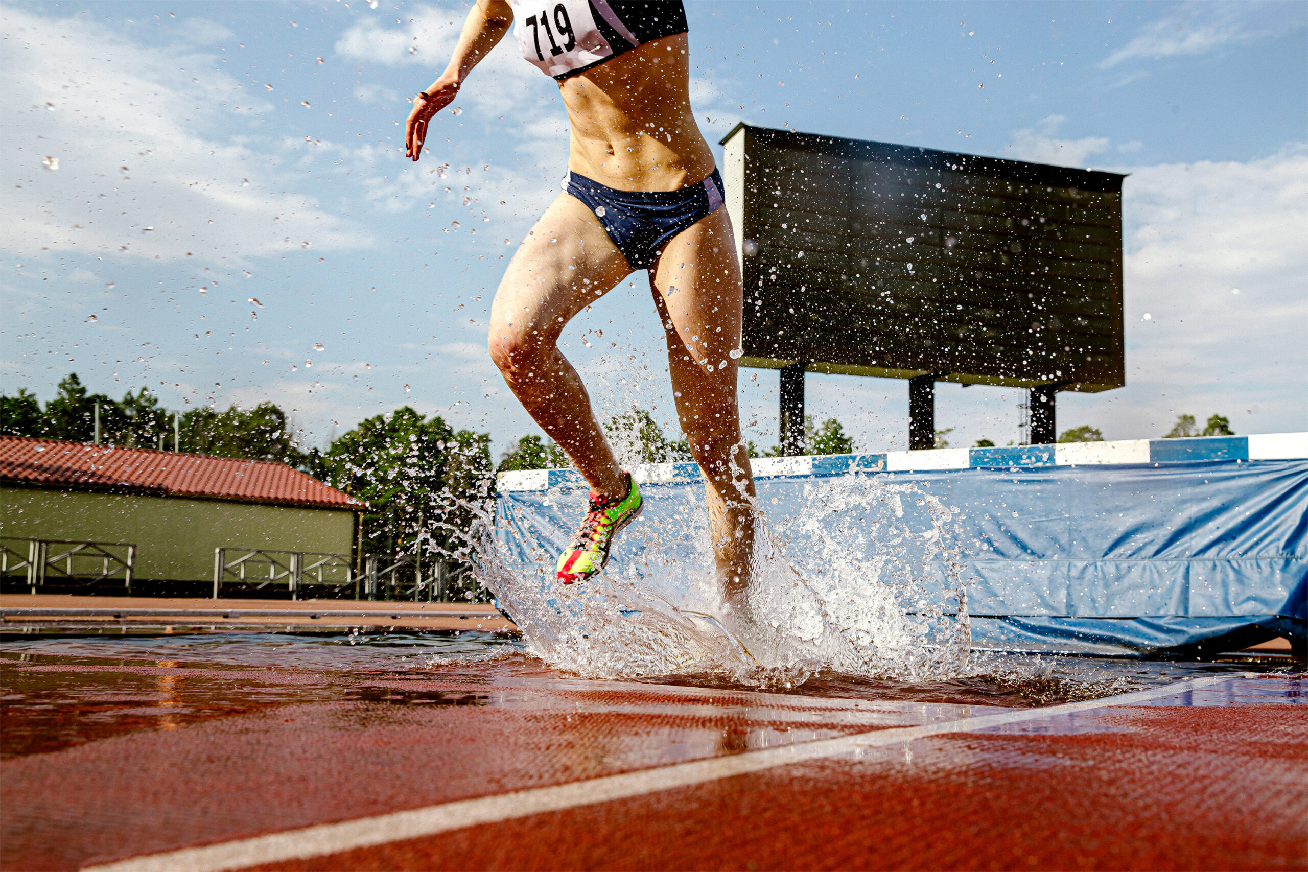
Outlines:
[{"label": "runner's dark cropped top including the white 719 bib", "polygon": [[681,0],[509,0],[522,56],[562,80],[651,39],[687,33]]}]

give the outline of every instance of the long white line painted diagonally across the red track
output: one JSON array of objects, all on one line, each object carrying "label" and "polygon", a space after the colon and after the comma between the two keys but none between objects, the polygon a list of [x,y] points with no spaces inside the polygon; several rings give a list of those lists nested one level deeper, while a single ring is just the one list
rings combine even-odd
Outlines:
[{"label": "long white line painted diagonally across the red track", "polygon": [[86,867],[86,872],[173,872],[174,869],[225,872],[226,869],[242,869],[263,863],[302,860],[360,847],[386,845],[387,842],[436,835],[437,833],[476,826],[479,824],[494,824],[528,814],[559,812],[581,805],[657,794],[678,787],[693,787],[695,784],[731,778],[732,775],[746,775],[811,760],[857,754],[866,748],[896,745],[927,736],[985,729],[988,727],[999,727],[1022,720],[1037,720],[1040,718],[1105,706],[1129,706],[1159,697],[1169,697],[1186,690],[1211,686],[1237,677],[1243,677],[1243,673],[1176,681],[1151,690],[1105,697],[1103,699],[1087,699],[1086,702],[1070,702],[1062,706],[1049,706],[1048,709],[1010,710],[994,715],[944,720],[920,727],[878,729],[854,736],[841,736],[840,739],[824,739],[782,748],[751,750],[731,757],[714,757],[659,769],[644,769],[621,775],[606,775],[603,778],[572,782],[555,787],[536,787],[511,794],[498,794],[496,796],[464,799],[455,803],[415,808],[407,812],[391,812],[388,814],[362,817],[340,824],[319,824],[318,826],[306,826],[284,833],[271,833],[268,835],[234,839],[217,845],[150,854],[116,863]]}]

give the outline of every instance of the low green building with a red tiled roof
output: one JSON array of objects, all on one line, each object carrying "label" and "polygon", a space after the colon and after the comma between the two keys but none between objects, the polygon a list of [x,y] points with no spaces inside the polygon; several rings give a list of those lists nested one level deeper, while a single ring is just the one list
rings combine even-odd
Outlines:
[{"label": "low green building with a red tiled roof", "polygon": [[[294,592],[318,567],[317,582],[353,586],[366,507],[281,463],[0,437],[0,584],[50,590],[69,570],[103,577],[101,588],[175,594],[217,575],[267,595]],[[128,553],[131,586],[114,563]]]}]

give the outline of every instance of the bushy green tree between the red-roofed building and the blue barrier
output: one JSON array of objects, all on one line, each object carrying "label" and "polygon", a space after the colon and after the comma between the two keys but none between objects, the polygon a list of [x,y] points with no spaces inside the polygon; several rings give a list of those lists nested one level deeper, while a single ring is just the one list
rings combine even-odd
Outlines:
[{"label": "bushy green tree between the red-roofed building and the blue barrier", "polygon": [[489,434],[455,433],[441,417],[428,420],[404,407],[361,421],[326,452],[311,452],[309,471],[369,505],[361,557],[377,556],[385,567],[420,548],[424,561],[436,552],[453,561],[453,595],[485,597],[466,569],[467,531],[493,498]]}]

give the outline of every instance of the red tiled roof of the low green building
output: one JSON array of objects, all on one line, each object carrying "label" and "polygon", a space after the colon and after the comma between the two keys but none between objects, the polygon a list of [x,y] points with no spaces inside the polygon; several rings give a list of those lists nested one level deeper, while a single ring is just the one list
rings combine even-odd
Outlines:
[{"label": "red tiled roof of the low green building", "polygon": [[3,484],[324,509],[364,507],[349,494],[281,463],[21,437],[0,437]]}]

